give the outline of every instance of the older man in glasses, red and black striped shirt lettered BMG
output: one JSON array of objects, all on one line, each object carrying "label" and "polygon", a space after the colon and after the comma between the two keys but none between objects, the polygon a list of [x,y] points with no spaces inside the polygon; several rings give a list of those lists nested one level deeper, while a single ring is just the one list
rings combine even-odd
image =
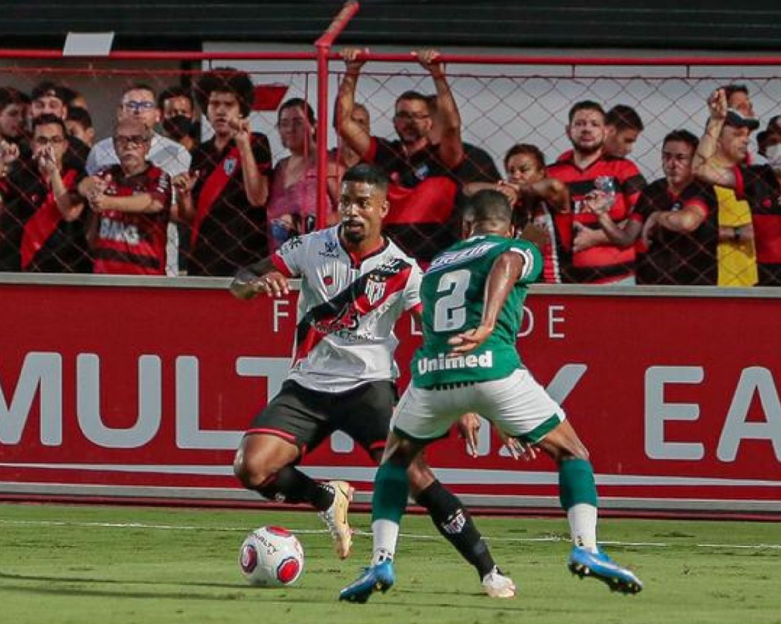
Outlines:
[{"label": "older man in glasses, red and black striped shirt lettered BMG", "polygon": [[95,273],[166,275],[166,229],[171,211],[169,175],[148,161],[152,130],[141,119],[116,124],[112,143],[119,164],[79,184],[94,218]]}]

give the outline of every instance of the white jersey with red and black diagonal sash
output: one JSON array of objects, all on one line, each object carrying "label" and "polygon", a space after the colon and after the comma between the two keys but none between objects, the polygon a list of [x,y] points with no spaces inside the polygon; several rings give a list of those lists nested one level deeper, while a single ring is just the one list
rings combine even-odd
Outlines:
[{"label": "white jersey with red and black diagonal sash", "polygon": [[421,271],[391,240],[358,258],[339,226],[288,240],[272,256],[301,278],[293,366],[288,379],[317,392],[346,392],[398,377],[394,325],[420,306]]}]

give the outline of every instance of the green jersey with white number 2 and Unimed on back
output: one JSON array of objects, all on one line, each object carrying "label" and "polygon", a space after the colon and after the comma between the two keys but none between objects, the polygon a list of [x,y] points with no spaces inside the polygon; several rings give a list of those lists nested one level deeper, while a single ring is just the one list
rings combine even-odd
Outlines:
[{"label": "green jersey with white number 2 and Unimed on back", "polygon": [[[494,332],[477,349],[452,356],[448,339],[480,325],[483,296],[494,261],[505,251],[523,257],[523,269],[497,319]],[[412,358],[412,380],[419,388],[465,381],[502,379],[521,367],[515,340],[521,327],[528,286],[542,270],[533,243],[501,236],[473,236],[448,248],[423,275],[423,346]]]}]

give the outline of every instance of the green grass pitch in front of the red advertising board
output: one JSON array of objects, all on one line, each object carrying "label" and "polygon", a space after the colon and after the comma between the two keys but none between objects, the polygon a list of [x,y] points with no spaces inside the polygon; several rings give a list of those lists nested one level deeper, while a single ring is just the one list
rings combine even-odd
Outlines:
[{"label": "green grass pitch in front of the red advertising board", "polygon": [[[407,516],[396,586],[366,605],[337,602],[371,551],[356,514],[352,558],[339,561],[314,513],[0,505],[0,622],[13,624],[781,624],[781,530],[775,523],[604,519],[605,549],[644,581],[611,594],[569,574],[564,519],[478,518],[519,587],[484,596],[476,574],[425,516]],[[293,587],[249,587],[244,535],[288,527],[305,549]]]}]

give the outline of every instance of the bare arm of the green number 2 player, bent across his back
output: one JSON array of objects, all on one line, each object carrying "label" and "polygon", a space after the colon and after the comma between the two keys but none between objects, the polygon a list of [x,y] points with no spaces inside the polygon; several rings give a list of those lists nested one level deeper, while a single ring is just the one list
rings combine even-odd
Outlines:
[{"label": "bare arm of the green number 2 player, bent across his back", "polygon": [[507,296],[521,276],[523,264],[521,255],[513,251],[505,251],[497,257],[486,280],[483,318],[480,319],[480,325],[448,340],[453,346],[453,353],[469,353],[488,339],[496,327],[497,318],[507,301]]}]

